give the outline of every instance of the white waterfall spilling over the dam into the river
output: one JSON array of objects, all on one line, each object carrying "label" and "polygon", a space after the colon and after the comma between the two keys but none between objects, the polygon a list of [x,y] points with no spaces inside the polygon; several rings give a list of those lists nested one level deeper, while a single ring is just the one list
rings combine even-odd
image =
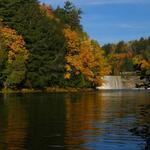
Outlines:
[{"label": "white waterfall spilling over the dam into the river", "polygon": [[104,83],[97,89],[123,89],[121,76],[104,76]]}]

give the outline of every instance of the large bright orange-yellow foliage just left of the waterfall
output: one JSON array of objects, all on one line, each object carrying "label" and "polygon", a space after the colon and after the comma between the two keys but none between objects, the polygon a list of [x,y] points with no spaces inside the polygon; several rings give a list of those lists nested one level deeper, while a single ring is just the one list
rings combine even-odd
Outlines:
[{"label": "large bright orange-yellow foliage just left of the waterfall", "polygon": [[101,77],[110,73],[110,68],[103,57],[103,51],[95,46],[88,38],[81,38],[79,33],[72,31],[69,27],[64,29],[68,49],[66,61],[75,69],[71,72],[66,68],[65,78],[70,79],[71,73],[83,74],[84,78],[95,85],[102,84]]}]

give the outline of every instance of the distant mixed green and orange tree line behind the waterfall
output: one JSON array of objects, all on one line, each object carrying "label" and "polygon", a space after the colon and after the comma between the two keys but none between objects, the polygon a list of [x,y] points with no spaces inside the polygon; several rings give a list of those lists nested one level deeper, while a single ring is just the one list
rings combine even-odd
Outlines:
[{"label": "distant mixed green and orange tree line behind the waterfall", "polygon": [[150,87],[150,37],[109,43],[103,49],[111,65],[112,75],[135,72],[142,80],[142,84],[137,84],[136,87]]}]

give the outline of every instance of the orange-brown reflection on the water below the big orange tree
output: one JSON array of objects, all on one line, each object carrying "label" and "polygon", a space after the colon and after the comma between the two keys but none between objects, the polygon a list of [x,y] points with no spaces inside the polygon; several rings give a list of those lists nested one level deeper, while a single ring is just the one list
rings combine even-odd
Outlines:
[{"label": "orange-brown reflection on the water below the big orange tree", "polygon": [[[94,97],[93,97],[94,96]],[[87,135],[101,134],[101,131],[93,126],[99,120],[102,101],[98,101],[97,95],[78,94],[67,95],[66,104],[66,135],[65,144],[69,148],[81,149],[82,144],[89,141]],[[83,149],[83,147],[82,147]]]}]

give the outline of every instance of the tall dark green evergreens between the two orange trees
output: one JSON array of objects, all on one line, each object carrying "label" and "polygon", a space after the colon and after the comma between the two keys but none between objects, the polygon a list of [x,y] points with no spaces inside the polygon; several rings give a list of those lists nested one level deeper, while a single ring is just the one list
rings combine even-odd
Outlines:
[{"label": "tall dark green evergreens between the two orange trees", "polygon": [[[47,6],[41,9],[35,0],[24,1],[23,5],[20,1],[17,11],[9,19],[11,27],[23,35],[30,53],[24,86],[44,88],[60,85],[66,49],[62,25],[57,19],[49,17],[50,9]],[[13,9],[11,6],[10,2],[10,9]]]}]

